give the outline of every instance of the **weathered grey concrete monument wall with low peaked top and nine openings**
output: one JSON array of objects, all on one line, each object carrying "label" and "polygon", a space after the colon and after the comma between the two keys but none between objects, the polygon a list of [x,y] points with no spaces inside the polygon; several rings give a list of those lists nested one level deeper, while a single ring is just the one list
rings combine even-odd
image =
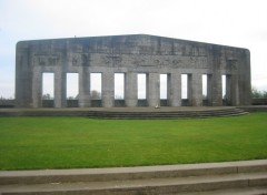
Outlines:
[{"label": "weathered grey concrete monument wall with low peaked top and nine openings", "polygon": [[155,35],[113,35],[21,41],[16,51],[16,101],[42,106],[42,73],[55,73],[55,107],[66,107],[66,75],[79,75],[79,106],[91,106],[90,73],[101,73],[102,106],[115,106],[115,73],[125,74],[125,106],[137,106],[137,75],[147,75],[147,103],[160,104],[159,76],[167,74],[169,106],[181,105],[181,74],[188,102],[202,105],[202,74],[208,105],[222,105],[226,75],[229,105],[250,104],[250,54],[247,49]]}]

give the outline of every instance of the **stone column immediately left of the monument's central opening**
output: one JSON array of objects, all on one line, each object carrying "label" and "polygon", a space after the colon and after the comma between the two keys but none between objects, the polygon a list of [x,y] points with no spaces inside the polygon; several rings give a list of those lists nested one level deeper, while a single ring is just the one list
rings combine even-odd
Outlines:
[{"label": "stone column immediately left of the monument's central opening", "polygon": [[137,73],[127,72],[125,76],[126,106],[137,106]]}]

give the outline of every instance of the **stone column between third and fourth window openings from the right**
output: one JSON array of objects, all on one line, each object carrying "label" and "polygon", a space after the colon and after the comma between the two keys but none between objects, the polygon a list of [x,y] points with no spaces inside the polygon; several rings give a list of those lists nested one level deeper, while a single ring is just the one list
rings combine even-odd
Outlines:
[{"label": "stone column between third and fourth window openings from the right", "polygon": [[170,73],[167,75],[167,99],[170,106],[181,105],[181,74]]}]

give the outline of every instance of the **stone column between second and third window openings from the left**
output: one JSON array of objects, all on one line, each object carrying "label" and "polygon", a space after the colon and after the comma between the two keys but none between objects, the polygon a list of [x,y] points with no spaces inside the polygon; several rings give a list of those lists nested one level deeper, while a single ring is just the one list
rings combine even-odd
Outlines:
[{"label": "stone column between second and third window openings from the left", "polygon": [[83,68],[79,72],[79,106],[89,107],[90,104],[90,72],[87,68]]}]

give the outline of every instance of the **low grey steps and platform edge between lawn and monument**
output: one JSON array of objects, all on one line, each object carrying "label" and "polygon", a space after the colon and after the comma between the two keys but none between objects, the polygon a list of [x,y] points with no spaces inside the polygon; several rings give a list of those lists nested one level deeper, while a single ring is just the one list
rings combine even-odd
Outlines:
[{"label": "low grey steps and platform edge between lawn and monument", "polygon": [[89,109],[9,109],[0,116],[85,116],[89,119],[167,120],[221,117],[248,114],[237,107],[89,107]]}]

